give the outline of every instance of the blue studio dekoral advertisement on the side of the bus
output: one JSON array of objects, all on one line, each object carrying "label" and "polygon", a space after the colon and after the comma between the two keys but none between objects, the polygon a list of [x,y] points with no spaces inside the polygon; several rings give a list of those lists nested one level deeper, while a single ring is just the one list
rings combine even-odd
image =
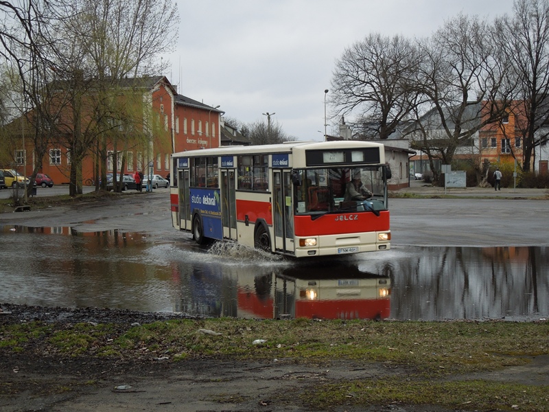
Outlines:
[{"label": "blue studio dekoral advertisement on the side of the bus", "polygon": [[220,190],[196,187],[191,188],[191,210],[200,211],[204,235],[208,238],[223,239],[221,220]]}]

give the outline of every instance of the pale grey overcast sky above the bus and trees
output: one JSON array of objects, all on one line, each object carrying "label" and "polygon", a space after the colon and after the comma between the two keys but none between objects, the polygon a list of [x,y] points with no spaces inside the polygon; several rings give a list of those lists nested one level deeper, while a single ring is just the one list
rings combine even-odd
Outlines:
[{"label": "pale grey overcast sky above the bus and trees", "polygon": [[179,40],[164,58],[178,93],[245,123],[275,113],[271,122],[299,140],[324,139],[324,91],[353,43],[373,32],[430,36],[459,12],[493,19],[513,8],[513,0],[176,2]]}]

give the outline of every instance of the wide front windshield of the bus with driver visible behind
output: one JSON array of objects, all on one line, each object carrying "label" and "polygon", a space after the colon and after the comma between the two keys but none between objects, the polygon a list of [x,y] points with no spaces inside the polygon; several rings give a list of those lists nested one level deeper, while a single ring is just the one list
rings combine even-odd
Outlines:
[{"label": "wide front windshield of the bus with driver visible behind", "polygon": [[383,166],[294,170],[294,214],[386,210]]}]

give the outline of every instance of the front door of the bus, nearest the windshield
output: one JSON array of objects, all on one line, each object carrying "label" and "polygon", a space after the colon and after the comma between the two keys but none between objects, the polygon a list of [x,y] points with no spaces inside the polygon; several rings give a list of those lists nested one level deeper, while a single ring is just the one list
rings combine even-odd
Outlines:
[{"label": "front door of the bus, nearest the windshield", "polygon": [[274,249],[294,252],[294,208],[290,170],[273,170]]}]

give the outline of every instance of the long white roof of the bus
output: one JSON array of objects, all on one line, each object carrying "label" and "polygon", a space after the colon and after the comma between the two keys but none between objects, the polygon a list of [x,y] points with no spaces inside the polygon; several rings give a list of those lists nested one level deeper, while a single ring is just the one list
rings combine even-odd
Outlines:
[{"label": "long white roof of the bus", "polygon": [[174,153],[172,157],[195,156],[231,156],[231,155],[261,155],[266,153],[291,153],[294,148],[299,150],[336,150],[352,148],[382,147],[381,143],[362,140],[338,141],[288,141],[281,144],[264,144],[255,146],[221,146],[212,149],[189,150]]}]

